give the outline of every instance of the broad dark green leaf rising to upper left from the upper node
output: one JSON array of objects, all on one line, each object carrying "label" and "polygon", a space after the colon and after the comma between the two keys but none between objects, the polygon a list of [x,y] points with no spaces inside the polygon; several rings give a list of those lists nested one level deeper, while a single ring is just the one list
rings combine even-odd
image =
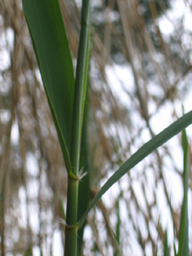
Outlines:
[{"label": "broad dark green leaf rising to upper left from the upper node", "polygon": [[68,172],[75,78],[58,0],[23,0],[35,54]]}]

